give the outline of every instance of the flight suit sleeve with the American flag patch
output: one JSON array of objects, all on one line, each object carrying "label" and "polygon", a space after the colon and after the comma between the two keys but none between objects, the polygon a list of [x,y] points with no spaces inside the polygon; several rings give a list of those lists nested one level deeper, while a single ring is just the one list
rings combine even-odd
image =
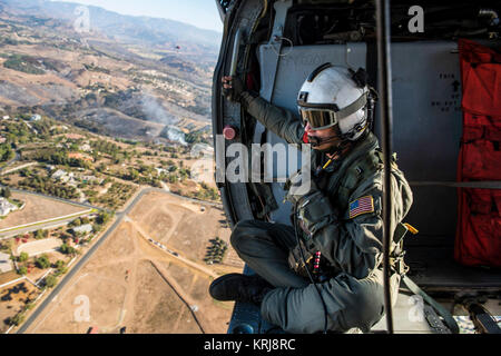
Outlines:
[{"label": "flight suit sleeve with the American flag patch", "polygon": [[[412,205],[409,185],[397,181],[393,175],[392,192],[391,236],[396,222],[405,217]],[[337,221],[313,237],[314,249],[320,250],[336,270],[365,278],[379,267],[383,248],[382,198],[382,172],[376,172],[351,195],[348,207],[341,212]],[[372,207],[366,205],[370,200]],[[351,202],[357,201],[362,201],[364,207],[354,210]],[[351,210],[353,217],[350,217]]]}]

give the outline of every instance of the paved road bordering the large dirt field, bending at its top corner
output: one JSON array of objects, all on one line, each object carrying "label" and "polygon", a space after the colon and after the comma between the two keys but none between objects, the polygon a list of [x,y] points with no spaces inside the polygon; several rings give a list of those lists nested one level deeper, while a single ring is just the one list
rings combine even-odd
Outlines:
[{"label": "paved road bordering the large dirt field, bending at its top corner", "polygon": [[128,206],[116,214],[116,219],[114,224],[105,231],[105,234],[90,247],[90,249],[81,256],[81,258],[78,260],[78,263],[68,271],[68,274],[58,283],[58,285],[52,289],[49,296],[47,296],[46,299],[32,312],[32,314],[28,317],[28,319],[21,325],[21,327],[17,330],[17,334],[23,334],[30,326],[33,324],[33,322],[38,318],[38,316],[52,303],[52,300],[56,300],[56,297],[59,295],[59,293],[65,288],[65,286],[71,280],[71,278],[77,275],[77,273],[87,264],[87,261],[92,257],[92,255],[97,251],[97,249],[107,240],[107,238],[115,231],[115,229],[121,224],[124,218],[127,216],[130,210],[136,206],[136,204],[143,198],[144,195],[151,192],[151,191],[158,191],[161,194],[169,194],[176,197],[180,197],[183,199],[186,199],[188,201],[197,202],[197,204],[204,204],[215,207],[220,207],[220,204],[217,202],[209,202],[209,201],[203,201],[197,199],[191,199],[187,197],[181,197],[178,195],[175,195],[173,192],[168,192],[160,188],[144,188],[141,189],[136,197],[128,204]]}]

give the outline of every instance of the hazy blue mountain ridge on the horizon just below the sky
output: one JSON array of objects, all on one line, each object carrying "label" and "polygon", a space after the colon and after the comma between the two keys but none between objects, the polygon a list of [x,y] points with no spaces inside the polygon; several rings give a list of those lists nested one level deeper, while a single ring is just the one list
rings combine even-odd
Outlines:
[{"label": "hazy blue mountain ridge on the horizon just below the sky", "polygon": [[[79,17],[77,8],[81,6],[47,0],[0,0],[0,11],[3,7],[19,14],[46,16],[75,22]],[[153,46],[198,44],[209,51],[217,51],[220,44],[222,33],[216,31],[168,19],[125,16],[94,6],[85,7],[89,9],[90,29],[115,40]]]}]

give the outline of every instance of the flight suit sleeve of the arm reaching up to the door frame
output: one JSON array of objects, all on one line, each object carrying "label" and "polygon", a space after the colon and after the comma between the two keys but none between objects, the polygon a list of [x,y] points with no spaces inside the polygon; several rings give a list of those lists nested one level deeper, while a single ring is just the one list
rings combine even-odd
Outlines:
[{"label": "flight suit sleeve of the arm reaching up to the door frame", "polygon": [[303,142],[304,127],[293,113],[276,107],[261,97],[253,97],[249,92],[242,93],[242,103],[247,112],[263,123],[268,130],[283,138],[288,144]]}]

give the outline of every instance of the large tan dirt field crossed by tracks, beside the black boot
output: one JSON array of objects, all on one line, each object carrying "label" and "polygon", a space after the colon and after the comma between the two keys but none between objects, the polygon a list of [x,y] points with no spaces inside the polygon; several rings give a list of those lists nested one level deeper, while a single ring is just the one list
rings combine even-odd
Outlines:
[{"label": "large tan dirt field crossed by tracks, beside the black boot", "polygon": [[232,248],[222,265],[202,260],[208,239],[229,238],[223,210],[202,207],[145,195],[27,333],[226,333],[233,303],[212,299],[208,286],[244,264]]}]

